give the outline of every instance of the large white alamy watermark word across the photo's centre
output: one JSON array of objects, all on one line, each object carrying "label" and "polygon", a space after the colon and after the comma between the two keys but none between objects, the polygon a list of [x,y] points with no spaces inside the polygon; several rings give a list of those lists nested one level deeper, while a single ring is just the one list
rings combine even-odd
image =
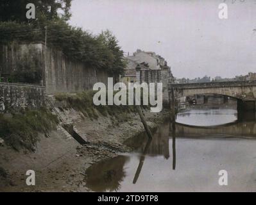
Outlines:
[{"label": "large white alamy watermark word across the photo's centre", "polygon": [[[157,86],[157,87],[156,87]],[[96,83],[94,91],[98,91],[93,102],[96,106],[105,105],[150,105],[151,112],[162,111],[162,83],[116,83],[113,78],[108,78],[108,85]],[[114,94],[115,92],[115,94]],[[142,102],[141,102],[142,95]]]}]

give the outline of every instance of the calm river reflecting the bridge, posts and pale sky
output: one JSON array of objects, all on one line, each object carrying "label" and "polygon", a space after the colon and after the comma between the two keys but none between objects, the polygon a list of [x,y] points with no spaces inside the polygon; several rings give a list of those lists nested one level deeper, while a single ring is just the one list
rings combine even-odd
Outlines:
[{"label": "calm river reflecting the bridge, posts and pale sky", "polygon": [[[179,113],[176,124],[125,143],[131,153],[101,161],[86,171],[94,192],[255,192],[255,114],[236,110],[196,109]],[[219,185],[226,170],[227,186]]]}]

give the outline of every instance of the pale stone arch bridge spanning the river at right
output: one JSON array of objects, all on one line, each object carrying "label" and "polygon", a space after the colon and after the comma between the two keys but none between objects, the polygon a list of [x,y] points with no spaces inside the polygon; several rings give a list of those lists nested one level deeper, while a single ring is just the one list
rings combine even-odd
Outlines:
[{"label": "pale stone arch bridge spanning the river at right", "polygon": [[237,99],[238,111],[255,111],[256,109],[256,80],[169,84],[168,90],[172,110],[175,110],[176,99],[196,94],[216,94],[234,97]]}]

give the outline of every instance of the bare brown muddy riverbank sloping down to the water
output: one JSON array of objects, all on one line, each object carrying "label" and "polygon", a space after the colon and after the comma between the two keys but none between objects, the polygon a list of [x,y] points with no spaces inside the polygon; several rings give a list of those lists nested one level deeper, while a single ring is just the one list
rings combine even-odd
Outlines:
[{"label": "bare brown muddy riverbank sloping down to the water", "polygon": [[[35,152],[14,151],[0,147],[0,192],[87,192],[85,170],[94,163],[129,152],[124,145],[128,138],[144,131],[137,113],[122,113],[98,119],[85,117],[73,109],[56,108],[61,117],[72,122],[74,130],[87,144],[80,145],[58,126],[49,136],[40,135]],[[168,111],[150,113],[143,110],[149,127],[158,127],[168,117]],[[121,120],[123,118],[123,120]],[[35,171],[35,186],[26,185],[26,171]]]}]

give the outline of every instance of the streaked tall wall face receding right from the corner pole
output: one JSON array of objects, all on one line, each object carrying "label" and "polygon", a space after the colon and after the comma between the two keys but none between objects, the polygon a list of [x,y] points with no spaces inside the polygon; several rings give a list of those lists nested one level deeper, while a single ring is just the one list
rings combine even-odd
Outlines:
[{"label": "streaked tall wall face receding right from the corner pole", "polygon": [[[42,45],[44,53],[44,45]],[[45,85],[47,94],[92,90],[95,83],[107,85],[105,70],[94,69],[78,61],[70,61],[61,51],[47,48]]]}]

